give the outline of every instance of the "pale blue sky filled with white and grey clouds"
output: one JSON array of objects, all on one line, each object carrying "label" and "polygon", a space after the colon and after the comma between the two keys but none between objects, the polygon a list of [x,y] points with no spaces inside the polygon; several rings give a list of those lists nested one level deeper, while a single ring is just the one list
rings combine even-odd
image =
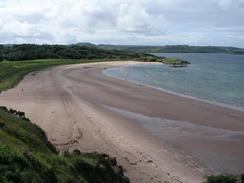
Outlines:
[{"label": "pale blue sky filled with white and grey clouds", "polygon": [[0,43],[244,47],[244,0],[0,0]]}]

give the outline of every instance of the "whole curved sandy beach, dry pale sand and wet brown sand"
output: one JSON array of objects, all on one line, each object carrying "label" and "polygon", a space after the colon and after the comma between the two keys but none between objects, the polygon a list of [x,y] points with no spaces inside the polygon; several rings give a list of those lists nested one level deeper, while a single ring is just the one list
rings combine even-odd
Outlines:
[{"label": "whole curved sandy beach, dry pale sand and wet brown sand", "polygon": [[106,76],[106,68],[68,65],[27,75],[0,94],[24,111],[60,150],[115,156],[131,182],[202,182],[244,172],[244,112]]}]

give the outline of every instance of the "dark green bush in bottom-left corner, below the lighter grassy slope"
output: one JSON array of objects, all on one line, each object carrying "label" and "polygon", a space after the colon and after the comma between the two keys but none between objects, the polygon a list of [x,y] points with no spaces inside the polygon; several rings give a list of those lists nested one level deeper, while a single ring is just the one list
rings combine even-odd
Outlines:
[{"label": "dark green bush in bottom-left corner, below the lighter grassy slope", "polygon": [[52,170],[42,165],[32,154],[0,146],[0,182],[57,182]]}]

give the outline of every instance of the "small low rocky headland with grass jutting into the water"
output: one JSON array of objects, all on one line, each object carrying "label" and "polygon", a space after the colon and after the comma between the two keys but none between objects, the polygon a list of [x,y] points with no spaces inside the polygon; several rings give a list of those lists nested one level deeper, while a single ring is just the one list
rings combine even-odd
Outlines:
[{"label": "small low rocky headland with grass jutting into the water", "polygon": [[190,64],[190,62],[179,58],[166,58],[166,57],[156,57],[156,56],[146,56],[136,60],[142,62],[159,62],[159,63],[167,64],[170,67],[174,67],[174,68],[187,67]]}]

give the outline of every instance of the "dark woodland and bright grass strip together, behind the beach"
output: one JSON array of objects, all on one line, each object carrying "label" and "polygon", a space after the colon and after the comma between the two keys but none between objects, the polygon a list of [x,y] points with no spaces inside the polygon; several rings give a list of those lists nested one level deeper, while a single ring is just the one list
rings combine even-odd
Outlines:
[{"label": "dark woodland and bright grass strip together, behind the beach", "polygon": [[27,73],[47,67],[106,60],[133,60],[147,55],[104,50],[89,45],[0,45],[0,92],[14,87]]}]

